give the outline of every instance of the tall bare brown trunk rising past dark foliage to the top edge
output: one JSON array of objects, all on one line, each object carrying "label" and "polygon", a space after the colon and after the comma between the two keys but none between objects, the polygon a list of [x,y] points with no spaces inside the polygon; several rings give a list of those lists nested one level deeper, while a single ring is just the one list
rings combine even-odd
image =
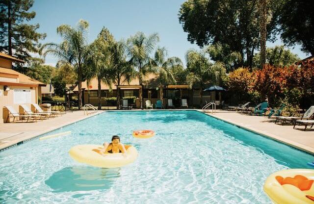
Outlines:
[{"label": "tall bare brown trunk rising past dark foliage to the top edge", "polygon": [[261,35],[261,67],[266,62],[266,35],[267,35],[267,0],[259,0],[260,35]]}]

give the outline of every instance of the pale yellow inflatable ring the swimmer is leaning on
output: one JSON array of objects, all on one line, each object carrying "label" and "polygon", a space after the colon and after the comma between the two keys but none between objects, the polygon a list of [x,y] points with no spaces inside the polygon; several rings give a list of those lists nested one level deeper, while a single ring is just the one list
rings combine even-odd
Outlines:
[{"label": "pale yellow inflatable ring the swimmer is leaning on", "polygon": [[70,156],[80,162],[101,168],[117,168],[125,166],[135,161],[137,158],[137,150],[133,146],[125,145],[127,156],[122,153],[108,153],[105,156],[93,151],[94,149],[102,149],[100,145],[77,145],[70,149]]}]

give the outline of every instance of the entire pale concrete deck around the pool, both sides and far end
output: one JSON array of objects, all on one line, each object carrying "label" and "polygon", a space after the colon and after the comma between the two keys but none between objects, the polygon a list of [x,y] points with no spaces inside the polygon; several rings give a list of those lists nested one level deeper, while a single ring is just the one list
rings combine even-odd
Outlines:
[{"label": "entire pale concrete deck around the pool, both sides and far end", "polygon": [[[99,110],[96,114],[100,114],[104,111],[105,110]],[[202,110],[198,111],[202,112]],[[23,141],[27,141],[46,132],[78,122],[96,114],[86,116],[83,114],[83,111],[74,111],[68,112],[64,116],[49,118],[43,121],[38,121],[37,123],[18,122],[0,124],[0,150],[12,147]],[[268,119],[264,116],[250,116],[246,114],[240,114],[235,111],[217,110],[214,114],[207,114],[217,119],[232,123],[236,126],[288,144],[305,152],[314,154],[314,128],[312,130],[302,131],[293,129],[293,126],[291,125],[277,125],[274,123],[274,119]]]}]

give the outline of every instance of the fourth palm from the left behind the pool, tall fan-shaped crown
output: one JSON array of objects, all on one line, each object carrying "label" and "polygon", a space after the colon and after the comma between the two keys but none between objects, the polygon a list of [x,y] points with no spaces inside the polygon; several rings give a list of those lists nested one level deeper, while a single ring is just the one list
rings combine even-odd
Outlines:
[{"label": "fourth palm from the left behind the pool, tall fan-shaped crown", "polygon": [[130,56],[130,62],[136,69],[136,75],[139,80],[139,85],[142,88],[139,90],[140,104],[143,109],[143,78],[149,72],[152,63],[150,53],[154,50],[155,45],[159,41],[157,33],[146,36],[143,32],[137,32],[127,40],[127,51]]}]

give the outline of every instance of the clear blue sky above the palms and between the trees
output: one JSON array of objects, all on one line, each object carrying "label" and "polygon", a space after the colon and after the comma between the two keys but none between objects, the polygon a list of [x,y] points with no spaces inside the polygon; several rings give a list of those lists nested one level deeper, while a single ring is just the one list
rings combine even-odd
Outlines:
[{"label": "clear blue sky above the palms and between the trees", "polygon": [[[39,23],[39,32],[47,33],[41,43],[61,41],[56,34],[56,27],[61,24],[75,26],[79,19],[89,22],[88,41],[92,42],[103,26],[107,27],[116,40],[127,39],[137,31],[145,34],[157,32],[160,37],[159,47],[166,47],[169,56],[178,56],[184,60],[188,49],[198,46],[187,41],[179,23],[179,8],[184,0],[35,0],[31,10],[36,17],[30,22]],[[280,45],[267,43],[267,46]],[[292,52],[300,58],[306,54],[296,46]],[[46,64],[55,66],[54,56],[46,57]]]}]

